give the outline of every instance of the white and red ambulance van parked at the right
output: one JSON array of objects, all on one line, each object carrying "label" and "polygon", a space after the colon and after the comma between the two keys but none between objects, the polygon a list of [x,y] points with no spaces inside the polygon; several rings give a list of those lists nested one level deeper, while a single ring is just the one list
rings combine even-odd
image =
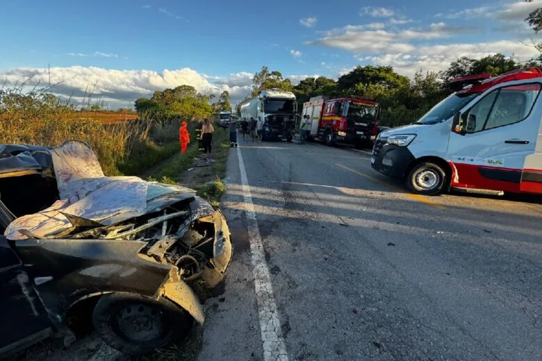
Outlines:
[{"label": "white and red ambulance van parked at the right", "polygon": [[405,178],[418,194],[542,194],[542,68],[452,84],[462,89],[415,124],[379,134],[373,169]]}]

